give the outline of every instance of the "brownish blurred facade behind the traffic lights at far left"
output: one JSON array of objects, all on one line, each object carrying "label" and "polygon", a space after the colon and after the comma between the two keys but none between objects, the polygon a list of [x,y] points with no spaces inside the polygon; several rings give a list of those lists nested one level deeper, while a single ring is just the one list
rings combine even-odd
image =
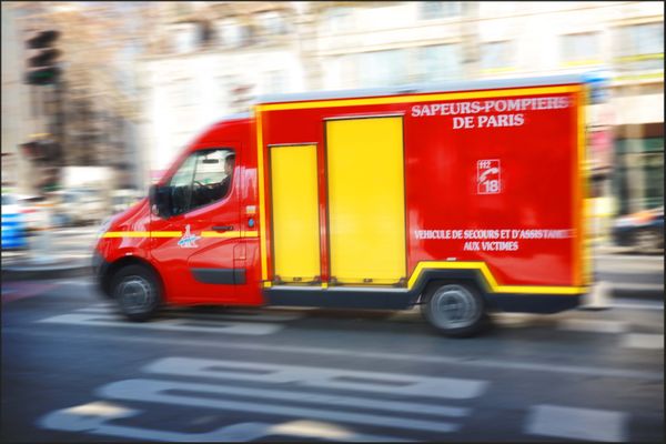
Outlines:
[{"label": "brownish blurred facade behind the traffic lights at far left", "polygon": [[[113,172],[107,191],[143,188],[133,70],[139,33],[130,29],[140,29],[139,11],[132,3],[2,3],[3,184],[39,193],[37,178],[94,165]],[[46,30],[60,33],[54,47],[62,74],[54,84],[27,84],[27,40]],[[48,168],[20,149],[34,140],[60,147]]]}]

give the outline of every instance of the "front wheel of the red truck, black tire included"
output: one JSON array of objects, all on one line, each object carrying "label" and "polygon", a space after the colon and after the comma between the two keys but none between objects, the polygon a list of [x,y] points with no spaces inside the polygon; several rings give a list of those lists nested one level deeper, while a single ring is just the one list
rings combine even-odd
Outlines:
[{"label": "front wheel of the red truck, black tire included", "polygon": [[143,265],[120,269],[111,283],[111,294],[121,313],[134,322],[155,315],[162,304],[162,287],[155,273]]}]

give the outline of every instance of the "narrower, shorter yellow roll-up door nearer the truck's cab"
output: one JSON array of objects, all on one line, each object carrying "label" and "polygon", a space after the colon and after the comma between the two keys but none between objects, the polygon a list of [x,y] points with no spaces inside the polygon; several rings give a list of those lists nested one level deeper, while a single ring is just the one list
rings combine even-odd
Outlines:
[{"label": "narrower, shorter yellow roll-up door nearer the truck's cab", "polygon": [[271,147],[273,266],[284,283],[320,276],[315,145]]}]

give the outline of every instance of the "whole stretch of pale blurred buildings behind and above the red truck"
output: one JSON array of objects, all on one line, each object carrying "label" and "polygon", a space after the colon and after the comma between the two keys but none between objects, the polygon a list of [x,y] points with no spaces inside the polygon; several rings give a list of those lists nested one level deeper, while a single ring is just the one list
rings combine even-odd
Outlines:
[{"label": "whole stretch of pale blurred buildings behind and above the red truck", "polygon": [[211,2],[160,8],[142,77],[151,169],[263,93],[604,73],[593,211],[663,205],[659,2]]}]

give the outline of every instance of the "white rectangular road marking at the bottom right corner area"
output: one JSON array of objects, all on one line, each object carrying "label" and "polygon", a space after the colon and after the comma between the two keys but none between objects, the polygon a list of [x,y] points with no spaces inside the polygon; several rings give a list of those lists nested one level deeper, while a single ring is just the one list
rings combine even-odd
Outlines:
[{"label": "white rectangular road marking at the bottom right corner area", "polygon": [[627,441],[627,414],[623,412],[535,405],[525,432],[579,441]]}]

